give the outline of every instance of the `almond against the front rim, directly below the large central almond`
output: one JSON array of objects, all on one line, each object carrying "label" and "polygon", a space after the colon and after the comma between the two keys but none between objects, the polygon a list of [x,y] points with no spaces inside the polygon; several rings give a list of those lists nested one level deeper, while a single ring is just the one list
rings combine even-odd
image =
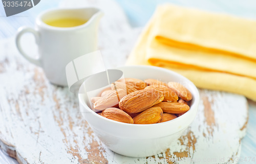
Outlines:
[{"label": "almond against the front rim, directly below the large central almond", "polygon": [[151,107],[133,118],[134,124],[155,124],[161,119],[163,111],[160,107]]}]

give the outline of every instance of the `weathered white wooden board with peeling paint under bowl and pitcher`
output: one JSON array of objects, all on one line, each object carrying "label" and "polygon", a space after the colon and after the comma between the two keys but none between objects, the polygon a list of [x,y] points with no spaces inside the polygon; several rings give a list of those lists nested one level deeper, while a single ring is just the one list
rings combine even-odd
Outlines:
[{"label": "weathered white wooden board with peeling paint under bowl and pitcher", "polygon": [[[105,3],[112,8],[104,8]],[[138,30],[130,28],[117,4],[104,0],[62,4],[92,5],[105,12],[99,45],[106,67],[124,64]],[[237,163],[248,120],[243,96],[200,90],[196,120],[166,152],[148,158],[125,157],[100,142],[82,118],[77,96],[68,88],[51,85],[41,68],[18,54],[13,38],[0,46],[4,54],[0,55],[0,146],[19,163],[172,163],[167,159],[177,161],[178,157],[188,157],[191,163]]]}]

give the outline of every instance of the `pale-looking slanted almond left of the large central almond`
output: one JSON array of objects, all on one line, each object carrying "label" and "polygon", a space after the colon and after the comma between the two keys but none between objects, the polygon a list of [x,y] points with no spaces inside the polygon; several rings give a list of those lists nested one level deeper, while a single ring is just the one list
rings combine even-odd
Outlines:
[{"label": "pale-looking slanted almond left of the large central almond", "polygon": [[123,89],[112,90],[109,95],[106,95],[94,103],[94,109],[103,110],[114,107],[119,104],[120,99],[126,96]]}]

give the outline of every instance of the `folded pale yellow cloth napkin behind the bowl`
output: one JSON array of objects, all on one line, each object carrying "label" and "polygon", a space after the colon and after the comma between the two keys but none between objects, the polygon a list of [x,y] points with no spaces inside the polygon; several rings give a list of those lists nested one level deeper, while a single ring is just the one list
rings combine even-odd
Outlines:
[{"label": "folded pale yellow cloth napkin behind the bowl", "polygon": [[256,101],[256,21],[161,5],[127,65],[155,65]]}]

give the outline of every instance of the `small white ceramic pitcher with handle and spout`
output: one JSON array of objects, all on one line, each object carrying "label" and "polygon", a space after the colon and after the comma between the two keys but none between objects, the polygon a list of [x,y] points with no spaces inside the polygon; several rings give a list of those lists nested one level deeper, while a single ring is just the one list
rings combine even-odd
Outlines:
[{"label": "small white ceramic pitcher with handle and spout", "polygon": [[[97,8],[52,9],[36,18],[35,29],[20,27],[16,35],[17,48],[28,61],[44,69],[53,84],[66,86],[66,65],[81,55],[97,50],[97,33],[102,12]],[[79,18],[88,20],[75,27],[61,28],[47,25],[47,19]],[[24,33],[32,33],[38,45],[39,57],[30,57],[20,45]]]}]

